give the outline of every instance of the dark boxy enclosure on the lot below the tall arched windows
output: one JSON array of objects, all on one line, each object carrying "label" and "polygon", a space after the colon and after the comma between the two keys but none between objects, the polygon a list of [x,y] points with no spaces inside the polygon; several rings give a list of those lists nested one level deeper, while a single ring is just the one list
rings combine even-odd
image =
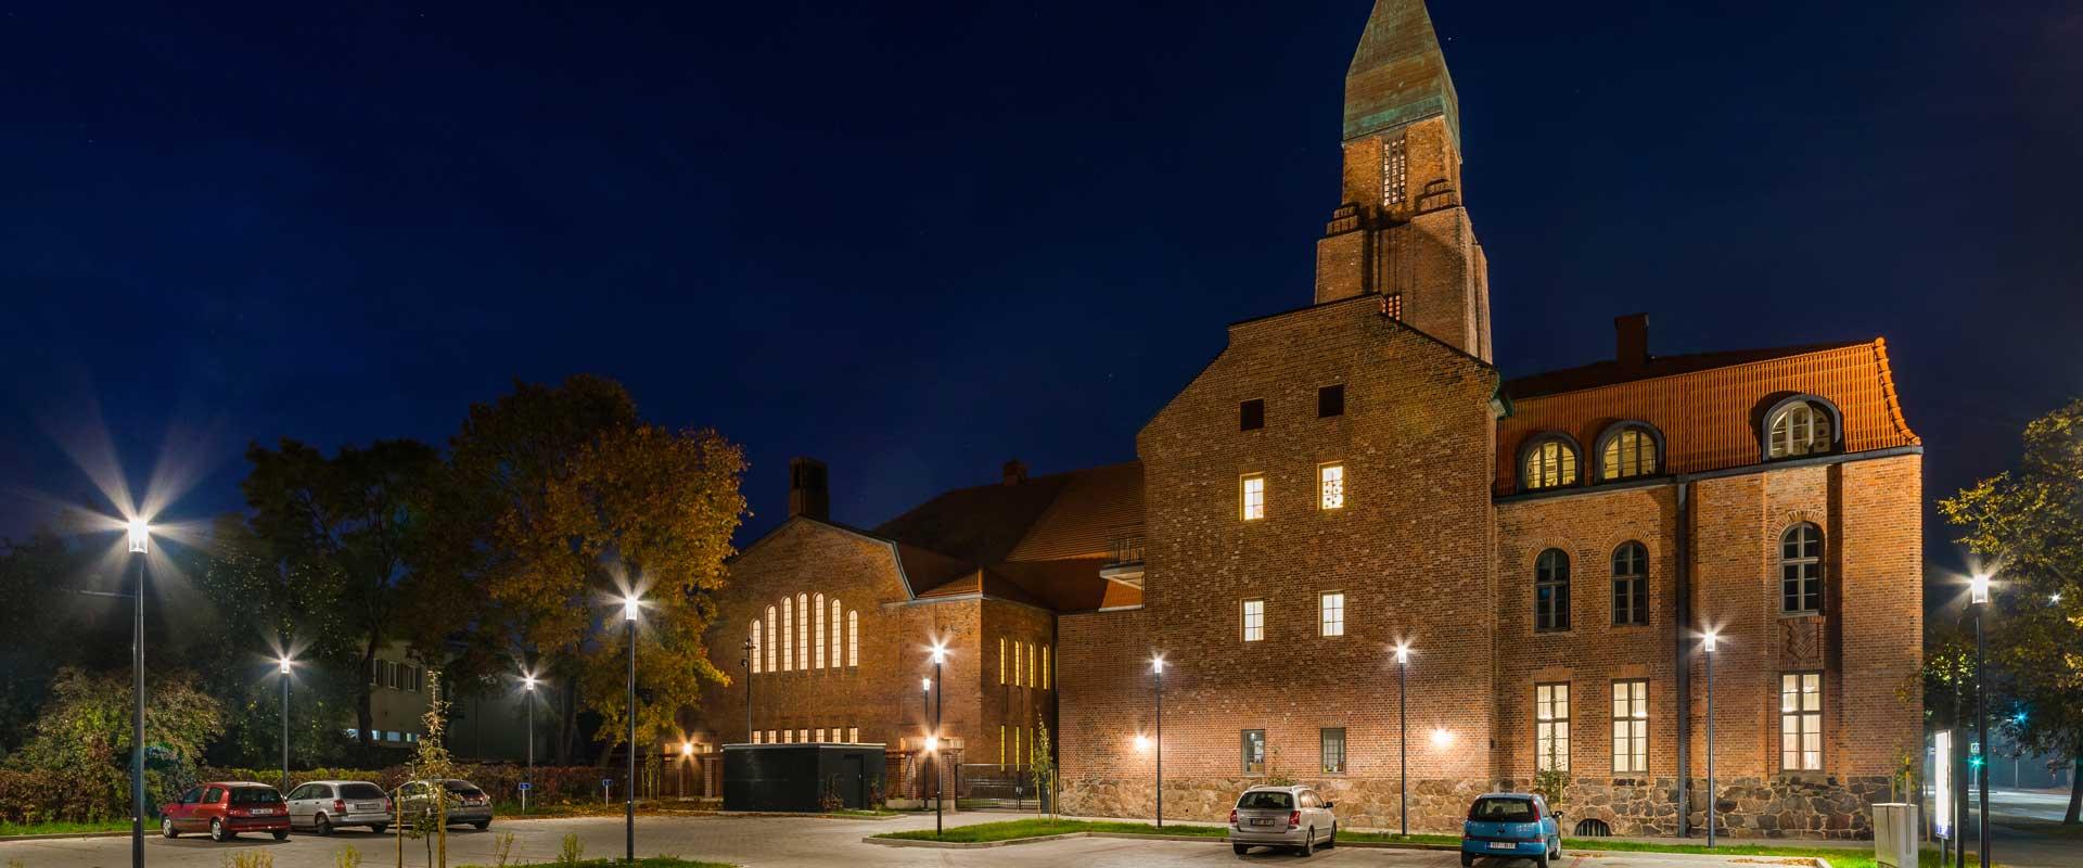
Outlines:
[{"label": "dark boxy enclosure on the lot below the tall arched windows", "polygon": [[881,776],[883,745],[723,745],[723,810],[814,814],[825,793],[839,808],[881,808],[869,803]]}]

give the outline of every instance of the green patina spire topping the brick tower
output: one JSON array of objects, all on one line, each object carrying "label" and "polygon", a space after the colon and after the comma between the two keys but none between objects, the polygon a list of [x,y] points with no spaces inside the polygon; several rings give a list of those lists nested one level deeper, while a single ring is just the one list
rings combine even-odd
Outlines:
[{"label": "green patina spire topping the brick tower", "polygon": [[1346,71],[1346,142],[1446,117],[1460,144],[1460,100],[1425,0],[1377,0]]}]

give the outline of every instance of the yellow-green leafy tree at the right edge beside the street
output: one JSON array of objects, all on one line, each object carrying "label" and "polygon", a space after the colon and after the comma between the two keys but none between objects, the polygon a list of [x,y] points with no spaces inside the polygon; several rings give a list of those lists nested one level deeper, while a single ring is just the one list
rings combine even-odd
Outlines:
[{"label": "yellow-green leafy tree at the right edge beside the street", "polygon": [[[1962,529],[1960,543],[2000,568],[1991,681],[2023,712],[2004,726],[2021,747],[2071,758],[2083,772],[2083,402],[2029,423],[2016,470],[1941,500],[1939,510]],[[2079,814],[2083,774],[2062,822]]]}]

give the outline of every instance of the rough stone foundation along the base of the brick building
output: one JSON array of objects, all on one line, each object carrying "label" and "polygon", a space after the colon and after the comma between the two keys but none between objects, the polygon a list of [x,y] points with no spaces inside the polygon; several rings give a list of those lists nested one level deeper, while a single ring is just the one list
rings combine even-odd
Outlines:
[{"label": "rough stone foundation along the base of the brick building", "polygon": [[[1223,822],[1237,793],[1264,778],[1164,778],[1164,816]],[[1398,778],[1312,778],[1337,801],[1339,822],[1354,828],[1398,828]],[[1150,818],[1156,797],[1150,776],[1066,776],[1062,812],[1073,816]],[[1525,791],[1531,781],[1410,781],[1410,831],[1460,833],[1469,803],[1489,791]],[[1889,799],[1885,776],[1725,778],[1718,833],[1731,839],[1871,839],[1873,803]],[[1693,835],[1706,828],[1706,778],[1693,781]],[[1677,778],[1577,778],[1564,789],[1564,835],[1583,820],[1604,820],[1612,835],[1673,837],[1679,833]]]}]

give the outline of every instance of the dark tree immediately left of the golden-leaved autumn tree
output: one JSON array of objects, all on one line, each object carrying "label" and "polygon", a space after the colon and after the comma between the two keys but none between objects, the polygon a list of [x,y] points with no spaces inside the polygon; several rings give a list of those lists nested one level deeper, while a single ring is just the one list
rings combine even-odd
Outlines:
[{"label": "dark tree immediately left of the golden-leaved autumn tree", "polygon": [[[252,506],[252,537],[246,550],[248,568],[271,566],[271,575],[242,581],[277,585],[283,593],[323,593],[325,608],[300,606],[294,612],[325,622],[290,624],[300,637],[331,652],[335,641],[346,647],[342,662],[352,662],[356,676],[356,735],[371,745],[371,685],[367,672],[377,649],[398,633],[404,587],[421,543],[421,504],[440,468],[433,448],[408,439],[385,439],[362,450],[344,445],[331,458],[310,445],[283,439],[277,450],[250,445],[246,460],[252,473],[240,485]],[[315,587],[315,591],[298,591]],[[281,633],[277,633],[281,635]],[[287,643],[287,637],[283,637]]]}]

